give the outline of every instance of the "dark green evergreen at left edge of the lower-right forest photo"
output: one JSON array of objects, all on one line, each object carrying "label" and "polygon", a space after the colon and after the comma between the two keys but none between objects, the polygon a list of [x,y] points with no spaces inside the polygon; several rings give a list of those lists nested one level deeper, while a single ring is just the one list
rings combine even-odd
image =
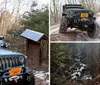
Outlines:
[{"label": "dark green evergreen at left edge of the lower-right forest photo", "polygon": [[71,48],[65,44],[51,44],[51,85],[66,82],[65,71],[72,64]]}]

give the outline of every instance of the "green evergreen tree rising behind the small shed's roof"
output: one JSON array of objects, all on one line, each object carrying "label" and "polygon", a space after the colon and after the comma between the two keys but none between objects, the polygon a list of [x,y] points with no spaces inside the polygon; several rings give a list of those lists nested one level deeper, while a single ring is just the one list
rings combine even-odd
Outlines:
[{"label": "green evergreen tree rising behind the small shed's roof", "polygon": [[48,7],[37,9],[37,3],[33,2],[31,12],[27,12],[21,19],[24,28],[39,31],[48,35],[49,29],[49,10]]}]

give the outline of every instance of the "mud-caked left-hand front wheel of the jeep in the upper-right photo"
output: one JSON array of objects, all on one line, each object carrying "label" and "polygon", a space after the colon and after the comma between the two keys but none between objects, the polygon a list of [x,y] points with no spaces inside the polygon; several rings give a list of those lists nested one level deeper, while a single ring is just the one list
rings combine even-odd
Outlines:
[{"label": "mud-caked left-hand front wheel of the jeep in the upper-right photo", "polygon": [[68,20],[65,16],[62,16],[59,33],[66,33],[68,27]]}]

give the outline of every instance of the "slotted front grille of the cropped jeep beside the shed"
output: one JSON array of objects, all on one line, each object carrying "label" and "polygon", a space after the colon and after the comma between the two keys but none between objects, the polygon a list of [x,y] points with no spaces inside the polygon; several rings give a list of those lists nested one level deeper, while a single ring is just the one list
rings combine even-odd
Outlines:
[{"label": "slotted front grille of the cropped jeep beside the shed", "polygon": [[0,58],[0,69],[17,67],[20,65],[18,57]]}]

